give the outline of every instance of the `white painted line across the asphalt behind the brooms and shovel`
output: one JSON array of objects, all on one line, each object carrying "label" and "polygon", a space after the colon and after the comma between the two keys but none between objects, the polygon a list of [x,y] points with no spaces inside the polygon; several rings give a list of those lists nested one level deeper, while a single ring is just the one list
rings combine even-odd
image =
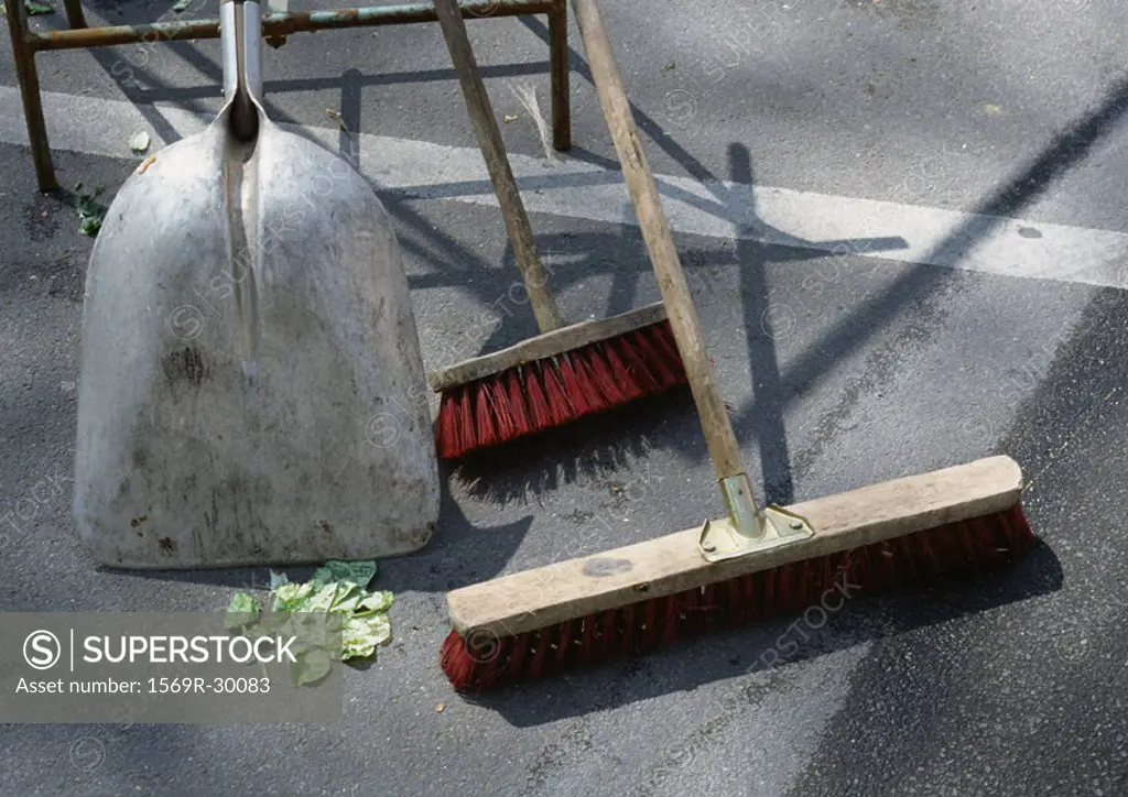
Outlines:
[{"label": "white painted line across the asphalt behind the brooms and shovel", "polygon": [[[179,108],[133,106],[81,94],[44,92],[43,105],[52,149],[133,160],[139,159],[129,149],[134,132],[148,131],[150,152],[157,152],[211,121]],[[158,119],[158,126],[150,118]],[[174,133],[166,140],[162,131]],[[303,132],[337,150],[337,130],[306,127]],[[10,87],[0,87],[0,141],[27,144],[19,91]],[[353,142],[361,171],[378,188],[476,205],[497,204],[476,148],[367,133],[354,134]],[[511,154],[511,161],[530,212],[637,224],[619,172],[566,157],[549,162]],[[30,158],[27,168],[32,168]],[[1128,234],[1122,232],[787,188],[752,188],[724,180],[700,183],[663,175],[655,179],[676,232],[1003,276],[1128,287]]]}]

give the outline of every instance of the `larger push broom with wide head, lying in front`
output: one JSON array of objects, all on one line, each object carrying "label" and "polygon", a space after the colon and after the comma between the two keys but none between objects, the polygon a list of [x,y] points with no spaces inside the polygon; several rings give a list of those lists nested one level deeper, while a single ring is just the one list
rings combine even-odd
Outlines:
[{"label": "larger push broom with wide head, lying in front", "polygon": [[[969,575],[1026,552],[1022,472],[992,457],[788,507],[757,505],[596,0],[572,0],[726,516],[655,540],[503,576],[447,595],[440,664],[484,690],[679,639],[802,612],[898,583]],[[836,599],[840,601],[840,599]]]}]

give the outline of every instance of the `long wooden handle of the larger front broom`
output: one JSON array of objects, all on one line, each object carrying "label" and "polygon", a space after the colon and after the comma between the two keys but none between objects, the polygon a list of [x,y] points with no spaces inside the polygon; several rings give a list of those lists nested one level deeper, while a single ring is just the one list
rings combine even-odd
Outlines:
[{"label": "long wooden handle of the larger front broom", "polygon": [[599,101],[603,106],[603,116],[607,117],[607,125],[611,130],[615,149],[619,154],[627,187],[631,191],[631,200],[638,215],[638,224],[646,241],[651,264],[658,274],[658,285],[662,291],[662,301],[666,303],[675,339],[678,342],[678,352],[681,354],[694,400],[697,402],[697,413],[702,419],[713,468],[719,479],[737,476],[744,470],[740,462],[737,436],[732,432],[724,399],[721,398],[713,375],[713,366],[702,336],[700,320],[694,308],[689,286],[686,284],[686,275],[678,262],[678,251],[673,246],[666,214],[662,212],[654,176],[650,171],[646,154],[638,140],[638,131],[631,115],[631,104],[623,89],[623,74],[611,52],[599,5],[596,0],[572,0],[572,8],[588,55],[588,65],[596,81],[596,90],[599,92]]}]

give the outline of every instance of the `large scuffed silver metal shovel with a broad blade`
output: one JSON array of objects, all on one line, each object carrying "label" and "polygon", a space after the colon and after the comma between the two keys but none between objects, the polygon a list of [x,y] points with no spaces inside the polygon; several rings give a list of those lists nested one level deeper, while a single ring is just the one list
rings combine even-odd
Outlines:
[{"label": "large scuffed silver metal shovel with a broad blade", "polygon": [[91,254],[79,538],[126,568],[417,550],[439,473],[390,220],[266,117],[258,3],[220,11],[227,104],[138,167]]}]

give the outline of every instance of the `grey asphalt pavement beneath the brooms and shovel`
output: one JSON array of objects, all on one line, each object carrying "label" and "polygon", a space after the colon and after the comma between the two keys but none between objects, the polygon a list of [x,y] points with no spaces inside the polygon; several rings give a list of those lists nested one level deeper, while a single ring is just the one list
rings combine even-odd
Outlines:
[{"label": "grey asphalt pavement beneath the brooms and shovel", "polygon": [[[168,0],[83,5],[103,24],[177,17]],[[0,792],[1128,792],[1128,258],[1111,264],[1119,285],[1043,278],[1017,256],[1005,273],[960,265],[994,216],[1022,222],[1015,247],[1064,240],[1054,224],[1076,228],[1070,241],[1128,232],[1128,11],[1098,0],[607,0],[603,10],[660,175],[702,181],[716,206],[748,203],[717,186],[755,184],[800,192],[800,214],[817,193],[889,203],[895,220],[924,206],[967,221],[940,243],[955,267],[676,229],[758,495],[793,503],[1007,453],[1023,468],[1036,550],[989,579],[847,602],[773,667],[757,663],[793,618],[458,697],[437,662],[448,590],[719,513],[693,401],[676,392],[444,469],[431,544],[380,565],[376,585],[397,596],[395,639],[346,673],[341,723],[7,725]],[[62,26],[62,15],[35,25]],[[470,33],[497,114],[517,117],[501,125],[506,147],[544,159],[511,90],[531,83],[547,107],[543,20],[475,20]],[[570,41],[566,157],[613,168],[574,23]],[[47,53],[38,65],[45,91],[136,104],[166,140],[168,108],[205,116],[220,103],[215,42]],[[274,118],[328,133],[325,110],[336,109],[372,134],[363,154],[374,162],[374,136],[388,151],[474,147],[435,26],[298,34],[266,51],[264,74]],[[15,86],[5,41],[0,90]],[[69,189],[104,186],[108,202],[136,166],[127,148],[109,157],[97,143],[127,142],[134,127],[122,118],[49,127],[68,189],[55,196],[36,192],[29,150],[5,138],[18,125],[0,121],[0,512],[23,513],[5,526],[6,611],[215,611],[267,583],[265,569],[100,569],[74,539],[91,239]],[[515,275],[496,209],[460,198],[465,186],[435,198],[373,183],[404,245],[429,367],[535,331],[527,309],[496,305]],[[629,207],[618,222],[611,200],[600,203],[532,214],[570,319],[658,299]],[[920,234],[898,230],[909,245]],[[1070,245],[1063,257],[1079,274],[1095,251]],[[786,321],[774,336],[766,315]]]}]

